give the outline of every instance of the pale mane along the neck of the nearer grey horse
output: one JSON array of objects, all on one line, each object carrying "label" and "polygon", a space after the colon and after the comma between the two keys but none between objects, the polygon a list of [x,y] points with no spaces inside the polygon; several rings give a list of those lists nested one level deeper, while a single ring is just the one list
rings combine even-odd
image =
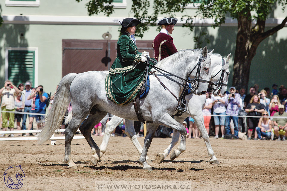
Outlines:
[{"label": "pale mane along the neck of the nearer grey horse", "polygon": [[[178,61],[184,59],[185,62],[189,61],[197,61],[198,55],[202,53],[201,48],[198,49],[186,49],[186,50],[179,50],[178,52],[172,54],[171,56],[162,59],[159,61],[155,66],[159,68],[166,68],[168,66],[172,66],[174,64],[177,64]],[[190,58],[193,58],[193,60],[189,60]],[[210,62],[209,56],[207,56],[207,62]]]}]

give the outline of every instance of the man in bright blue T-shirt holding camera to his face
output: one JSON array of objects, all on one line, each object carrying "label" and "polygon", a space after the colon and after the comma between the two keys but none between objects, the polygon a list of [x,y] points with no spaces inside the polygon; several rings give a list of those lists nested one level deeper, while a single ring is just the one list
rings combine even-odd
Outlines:
[{"label": "man in bright blue T-shirt holding camera to his face", "polygon": [[[29,99],[33,99],[35,97],[35,113],[46,114],[46,99],[48,98],[48,94],[43,91],[43,86],[39,85],[36,90],[33,88],[32,93],[28,96]],[[38,123],[38,128],[41,127],[41,123],[44,123],[43,115],[35,115],[36,122]],[[30,130],[30,129],[29,129]]]}]

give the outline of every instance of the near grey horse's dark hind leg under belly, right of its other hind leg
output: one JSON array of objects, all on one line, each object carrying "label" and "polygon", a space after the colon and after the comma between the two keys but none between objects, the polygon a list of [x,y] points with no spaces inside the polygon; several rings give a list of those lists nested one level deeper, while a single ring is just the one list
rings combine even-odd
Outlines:
[{"label": "near grey horse's dark hind leg under belly, right of its other hind leg", "polygon": [[100,149],[95,143],[94,139],[91,137],[91,130],[103,119],[106,114],[107,112],[103,111],[97,112],[96,114],[89,113],[89,116],[86,121],[80,126],[80,131],[82,132],[83,136],[85,137],[86,141],[92,149],[92,156],[90,159],[94,166],[97,166],[97,163],[100,159]]}]

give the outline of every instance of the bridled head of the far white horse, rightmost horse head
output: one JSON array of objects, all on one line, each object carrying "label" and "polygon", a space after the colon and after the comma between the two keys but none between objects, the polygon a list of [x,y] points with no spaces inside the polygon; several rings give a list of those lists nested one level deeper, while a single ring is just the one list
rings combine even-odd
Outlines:
[{"label": "bridled head of the far white horse, rightmost horse head", "polygon": [[210,86],[208,92],[213,93],[214,96],[224,97],[227,90],[230,55],[225,58],[220,54],[211,55],[211,67],[213,72],[210,78]]}]

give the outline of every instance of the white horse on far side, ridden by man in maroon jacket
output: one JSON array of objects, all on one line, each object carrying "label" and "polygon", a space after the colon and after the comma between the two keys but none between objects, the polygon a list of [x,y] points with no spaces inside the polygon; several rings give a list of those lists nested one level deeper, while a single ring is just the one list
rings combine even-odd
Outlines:
[{"label": "white horse on far side, ridden by man in maroon jacket", "polygon": [[[228,82],[228,75],[229,75],[228,61],[230,59],[230,54],[227,56],[227,58],[224,58],[219,54],[212,54],[210,58],[211,58],[210,67],[213,68],[210,82],[213,83],[213,90],[215,90],[213,91],[213,93],[215,94],[215,96],[219,94],[219,96],[223,97],[226,93],[227,86],[223,85],[223,87],[220,89],[217,87],[221,85],[221,84],[218,84],[220,83],[221,80],[222,80],[222,84],[227,84]],[[223,66],[222,66],[222,63],[224,63]],[[187,111],[183,113],[181,116],[178,116],[178,117],[175,116],[174,119],[182,124],[185,118],[187,118],[188,116],[191,116],[195,120],[195,123],[206,144],[207,152],[208,152],[208,155],[210,156],[210,163],[219,164],[212,150],[207,131],[204,127],[202,109],[205,105],[206,96],[205,95],[198,96],[195,94],[189,94],[186,96],[186,101],[187,101]],[[122,120],[123,118],[113,116],[112,119],[107,122],[105,135],[103,136],[103,141],[102,141],[102,144],[100,145],[100,157],[102,157],[102,155],[107,150],[109,138],[113,130],[115,129],[115,127],[117,127],[117,125],[121,123]],[[126,124],[126,129],[125,129],[126,135],[128,135],[132,143],[135,145],[139,155],[141,155],[143,148],[141,147],[141,144],[138,142],[138,139],[136,138],[133,121],[125,120],[125,124]],[[179,140],[179,135],[180,134],[177,130],[173,131],[172,142],[170,143],[169,147],[166,150],[164,150],[163,153],[159,153],[156,156],[155,162],[159,164],[161,163],[161,161],[164,160],[165,157],[167,157],[167,155],[169,155],[174,145],[177,144]],[[182,153],[181,150],[174,150],[170,156],[170,159],[173,160],[177,158],[181,153]],[[148,156],[146,156],[146,161],[149,164],[152,163]]]}]

